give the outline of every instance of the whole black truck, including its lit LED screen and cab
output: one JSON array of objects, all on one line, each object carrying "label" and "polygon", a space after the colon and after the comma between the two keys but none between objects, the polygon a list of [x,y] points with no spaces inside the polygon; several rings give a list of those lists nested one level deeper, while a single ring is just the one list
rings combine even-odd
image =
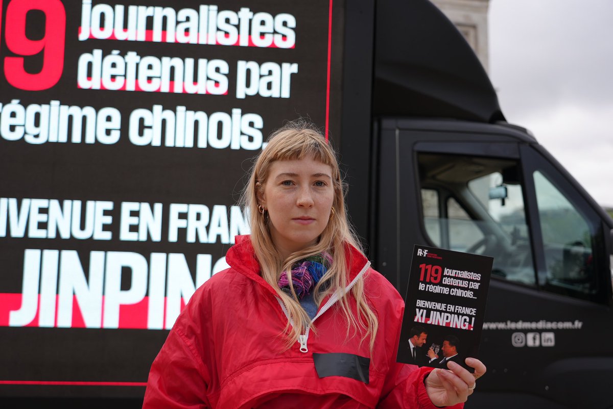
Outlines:
[{"label": "whole black truck, including its lit LED screen and cab", "polygon": [[248,233],[251,158],[296,116],[340,152],[400,293],[415,244],[493,257],[467,408],[613,407],[613,220],[506,122],[428,0],[0,6],[3,407],[140,407],[178,311]]}]

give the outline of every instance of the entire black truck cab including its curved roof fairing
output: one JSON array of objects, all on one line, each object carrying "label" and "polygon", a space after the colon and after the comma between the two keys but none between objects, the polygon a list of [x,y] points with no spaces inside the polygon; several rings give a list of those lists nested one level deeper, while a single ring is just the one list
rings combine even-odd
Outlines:
[{"label": "entire black truck cab including its curved roof fairing", "polygon": [[[373,265],[405,294],[415,244],[493,257],[479,352],[488,371],[467,407],[611,407],[611,217],[506,121],[436,7],[374,7],[375,64],[362,72],[372,78],[370,149],[340,141],[349,212]],[[369,189],[352,196],[360,172]]]}]

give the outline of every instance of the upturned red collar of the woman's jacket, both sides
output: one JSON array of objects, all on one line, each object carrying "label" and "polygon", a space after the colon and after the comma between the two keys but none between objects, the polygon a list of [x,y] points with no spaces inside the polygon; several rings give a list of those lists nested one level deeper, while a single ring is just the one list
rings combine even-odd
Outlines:
[{"label": "upturned red collar of the woman's jacket, both sides", "polygon": [[[276,291],[268,284],[260,274],[260,265],[257,262],[256,254],[251,245],[249,235],[239,235],[235,237],[234,246],[226,253],[226,262],[230,267],[263,285],[276,295]],[[345,249],[348,253],[349,277],[347,283],[351,282],[368,262],[367,258],[351,244],[346,243]]]}]

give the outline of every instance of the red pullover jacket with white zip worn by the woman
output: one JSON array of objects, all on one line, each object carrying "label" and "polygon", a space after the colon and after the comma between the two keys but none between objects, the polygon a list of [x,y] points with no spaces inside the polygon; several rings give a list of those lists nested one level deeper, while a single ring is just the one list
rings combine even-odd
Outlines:
[{"label": "red pullover jacket with white zip worn by the woman", "polygon": [[[379,319],[372,355],[360,333],[350,329],[347,336],[337,304],[322,312],[326,299],[314,318],[316,331],[303,336],[307,352],[299,342],[284,348],[284,307],[259,275],[249,237],[238,236],[226,255],[230,268],[205,282],[177,318],[151,366],[143,409],[435,408],[424,386],[431,368],[396,362],[402,298],[351,250],[349,280],[364,277]],[[313,353],[370,358],[363,374],[368,383],[351,377],[351,370],[320,378]],[[322,356],[333,370],[346,366],[346,359],[338,366],[338,358]]]}]

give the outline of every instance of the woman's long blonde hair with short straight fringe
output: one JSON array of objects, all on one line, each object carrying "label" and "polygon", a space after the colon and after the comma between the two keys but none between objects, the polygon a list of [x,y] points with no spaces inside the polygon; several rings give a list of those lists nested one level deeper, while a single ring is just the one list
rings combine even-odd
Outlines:
[{"label": "woman's long blonde hair with short straight fringe", "polygon": [[[330,218],[316,244],[300,252],[292,253],[286,260],[281,260],[281,255],[273,245],[270,230],[268,230],[268,217],[265,217],[265,213],[261,213],[258,209],[257,194],[264,190],[271,163],[276,160],[293,160],[305,157],[313,158],[332,168],[334,216]],[[347,219],[345,191],[346,186],[341,178],[335,151],[322,133],[304,119],[288,122],[285,126],[273,132],[268,138],[267,146],[259,154],[251,170],[251,177],[243,192],[242,202],[249,212],[251,243],[259,261],[262,278],[275,289],[278,297],[285,304],[292,321],[292,328],[290,328],[290,323],[286,327],[286,332],[287,329],[290,329],[287,337],[287,348],[291,347],[303,334],[310,325],[311,319],[296,298],[293,285],[290,284],[292,296],[289,296],[281,291],[277,282],[282,272],[291,271],[292,265],[296,261],[310,255],[328,252],[332,255],[332,266],[314,288],[314,300],[319,307],[325,296],[330,293],[338,293],[340,309],[348,322],[347,336],[349,336],[350,327],[354,331],[357,331],[358,328],[365,329],[362,342],[369,338],[370,350],[373,350],[378,319],[375,312],[368,306],[364,295],[364,278],[360,277],[351,288],[351,295],[357,303],[357,317],[351,313],[349,296],[345,293],[345,287],[349,282],[349,266],[351,265],[347,262],[350,255],[347,252],[346,244],[351,244],[363,253]],[[288,276],[290,275],[288,274]],[[326,282],[329,285],[324,285]],[[316,331],[313,327],[311,327],[311,330]]]}]

